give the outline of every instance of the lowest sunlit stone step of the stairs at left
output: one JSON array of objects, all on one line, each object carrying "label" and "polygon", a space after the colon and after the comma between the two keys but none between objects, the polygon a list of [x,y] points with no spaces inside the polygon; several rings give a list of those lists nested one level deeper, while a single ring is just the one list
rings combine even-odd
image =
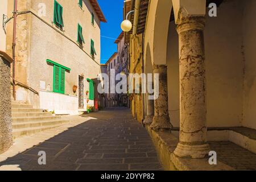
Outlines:
[{"label": "lowest sunlit stone step of the stairs at left", "polygon": [[47,127],[54,125],[61,125],[63,123],[69,122],[68,119],[53,120],[53,121],[39,121],[39,122],[16,122],[13,123],[13,129],[26,129],[26,128],[35,128],[35,127]]}]

